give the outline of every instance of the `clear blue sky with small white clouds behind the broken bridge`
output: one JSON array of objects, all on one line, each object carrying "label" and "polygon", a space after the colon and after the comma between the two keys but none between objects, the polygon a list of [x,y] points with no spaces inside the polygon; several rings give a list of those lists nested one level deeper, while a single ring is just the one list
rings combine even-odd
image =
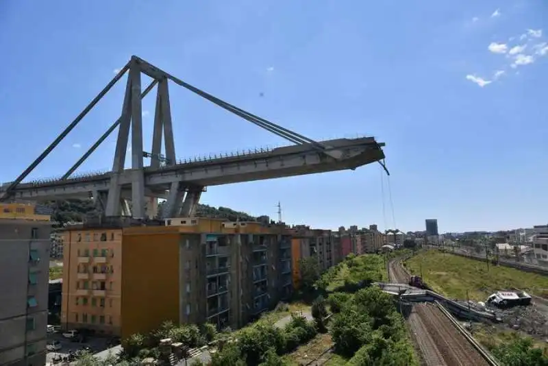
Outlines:
[{"label": "clear blue sky with small white clouds behind the broken bridge", "polygon": [[[540,0],[1,1],[0,181],[135,54],[310,138],[386,143],[393,205],[378,164],[212,187],[203,203],[276,217],[281,201],[284,221],[316,228],[546,223],[547,12]],[[31,178],[71,167],[119,116],[122,93],[119,83]],[[170,93],[179,158],[284,145],[187,90]],[[110,139],[81,171],[110,169],[113,151]]]}]

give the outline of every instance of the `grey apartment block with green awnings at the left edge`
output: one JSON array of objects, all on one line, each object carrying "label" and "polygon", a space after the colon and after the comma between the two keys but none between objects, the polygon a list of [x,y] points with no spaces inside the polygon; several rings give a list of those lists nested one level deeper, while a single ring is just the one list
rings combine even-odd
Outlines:
[{"label": "grey apartment block with green awnings at the left edge", "polygon": [[0,365],[45,365],[50,215],[0,204]]}]

